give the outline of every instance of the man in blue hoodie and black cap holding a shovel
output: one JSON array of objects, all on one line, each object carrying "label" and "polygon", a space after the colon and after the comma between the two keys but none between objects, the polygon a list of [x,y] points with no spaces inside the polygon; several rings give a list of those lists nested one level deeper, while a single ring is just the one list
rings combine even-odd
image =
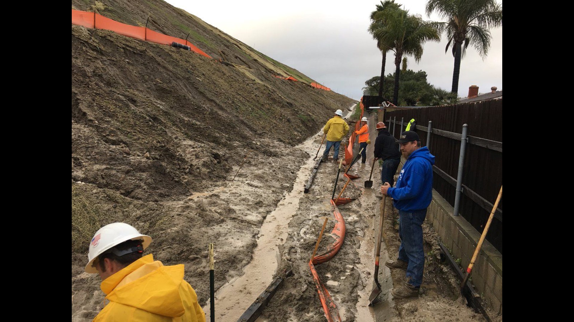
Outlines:
[{"label": "man in blue hoodie and black cap holding a shovel", "polygon": [[398,259],[387,261],[391,269],[406,270],[405,287],[393,289],[393,297],[404,299],[418,296],[422,284],[422,269],[425,253],[422,248],[422,222],[426,217],[426,208],[432,200],[432,166],[435,156],[428,147],[421,147],[417,132],[405,131],[398,143],[406,158],[397,185],[393,188],[388,182],[381,186],[381,193],[393,198],[393,205],[399,213],[398,234],[401,246]]}]

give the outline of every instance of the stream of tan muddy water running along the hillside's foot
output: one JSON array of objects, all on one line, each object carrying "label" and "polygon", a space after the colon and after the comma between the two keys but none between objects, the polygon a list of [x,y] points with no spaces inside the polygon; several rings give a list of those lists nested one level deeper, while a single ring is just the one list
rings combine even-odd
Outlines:
[{"label": "stream of tan muddy water running along the hillside's foot", "polygon": [[[315,139],[315,135],[313,135],[297,148],[312,151]],[[298,209],[299,199],[303,197],[305,181],[315,164],[313,157],[311,156],[306,163],[302,164],[297,172],[292,191],[285,194],[284,198],[277,204],[276,210],[265,218],[257,237],[253,259],[243,268],[243,275],[229,281],[215,293],[216,321],[238,320],[259,294],[272,282],[273,275],[280,264],[278,246],[284,244],[287,238],[289,221]],[[192,195],[191,198],[200,197],[199,195]],[[203,307],[207,321],[210,320],[209,308],[210,301],[207,301]]]}]

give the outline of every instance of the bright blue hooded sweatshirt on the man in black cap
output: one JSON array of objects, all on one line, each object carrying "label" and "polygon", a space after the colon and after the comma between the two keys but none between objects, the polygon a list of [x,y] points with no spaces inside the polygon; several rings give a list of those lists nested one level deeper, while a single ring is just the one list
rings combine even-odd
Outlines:
[{"label": "bright blue hooded sweatshirt on the man in black cap", "polygon": [[418,148],[406,160],[394,188],[387,195],[401,211],[424,210],[432,200],[432,165],[435,156],[427,147]]}]

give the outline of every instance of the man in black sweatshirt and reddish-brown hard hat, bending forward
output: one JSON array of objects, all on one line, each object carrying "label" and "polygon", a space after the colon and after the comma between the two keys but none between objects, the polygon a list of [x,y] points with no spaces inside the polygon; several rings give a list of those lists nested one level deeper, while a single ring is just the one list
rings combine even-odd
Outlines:
[{"label": "man in black sweatshirt and reddish-brown hard hat, bending forward", "polygon": [[[377,161],[379,158],[383,160],[381,183],[388,182],[392,187],[394,175],[397,173],[398,164],[401,162],[401,150],[391,133],[389,133],[385,123],[377,123],[376,128],[379,135],[375,140],[374,161]],[[378,191],[375,193],[375,196],[379,199],[382,198],[382,194]]]}]

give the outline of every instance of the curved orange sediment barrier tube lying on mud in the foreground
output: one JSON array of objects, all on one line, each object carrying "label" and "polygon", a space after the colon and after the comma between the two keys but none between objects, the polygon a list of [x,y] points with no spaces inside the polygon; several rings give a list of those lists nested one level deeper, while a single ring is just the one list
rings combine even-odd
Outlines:
[{"label": "curved orange sediment barrier tube lying on mud in the foreground", "polygon": [[317,270],[315,269],[315,265],[327,262],[333,258],[343,246],[343,241],[345,239],[345,221],[343,219],[343,215],[340,213],[339,209],[335,204],[335,201],[331,199],[331,205],[333,206],[333,214],[335,215],[335,227],[331,231],[331,235],[335,238],[335,242],[329,246],[326,252],[319,254],[311,260],[309,260],[308,266],[311,270],[311,274],[313,275],[313,280],[315,281],[315,287],[317,288],[317,293],[319,293],[319,300],[321,300],[321,306],[323,307],[323,311],[325,312],[325,317],[327,317],[327,321],[329,322],[340,322],[341,317],[339,316],[339,309],[333,301],[331,294],[325,285],[321,282],[319,278],[319,274],[317,274]]}]

